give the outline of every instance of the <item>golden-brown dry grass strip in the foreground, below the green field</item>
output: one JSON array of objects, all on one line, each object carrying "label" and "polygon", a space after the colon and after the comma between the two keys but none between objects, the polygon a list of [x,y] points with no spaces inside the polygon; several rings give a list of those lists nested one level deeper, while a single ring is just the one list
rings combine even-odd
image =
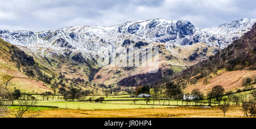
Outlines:
[{"label": "golden-brown dry grass strip in the foreground, below the green field", "polygon": [[[31,115],[34,114],[30,112]],[[162,109],[116,109],[72,110],[53,109],[40,111],[40,118],[219,118],[223,113],[218,108],[162,108]],[[226,117],[243,117],[241,108],[233,107]]]}]

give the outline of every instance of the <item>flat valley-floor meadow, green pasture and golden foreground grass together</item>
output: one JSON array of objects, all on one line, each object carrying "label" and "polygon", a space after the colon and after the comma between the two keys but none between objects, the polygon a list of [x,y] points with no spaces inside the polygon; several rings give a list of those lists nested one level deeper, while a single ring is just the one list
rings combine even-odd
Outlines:
[{"label": "flat valley-floor meadow, green pasture and golden foreground grass together", "polygon": [[[24,117],[38,118],[165,118],[165,117],[191,117],[191,118],[214,118],[223,117],[222,111],[216,107],[205,106],[182,106],[186,105],[182,101],[155,101],[152,100],[146,104],[144,98],[137,98],[137,101],[132,101],[134,98],[129,94],[118,96],[88,96],[98,98],[105,97],[103,102],[78,102],[64,101],[61,99],[43,100],[41,96],[36,96],[39,99],[34,110],[29,110]],[[61,98],[61,96],[59,96]],[[164,104],[163,104],[164,102]],[[16,102],[14,102],[16,104]],[[172,106],[171,106],[172,105]],[[174,106],[179,105],[179,106]],[[57,106],[58,108],[42,108],[40,106]],[[10,110],[16,110],[18,107],[11,106]],[[15,114],[11,114],[15,116]],[[232,106],[226,113],[226,117],[243,117],[242,108]]]}]

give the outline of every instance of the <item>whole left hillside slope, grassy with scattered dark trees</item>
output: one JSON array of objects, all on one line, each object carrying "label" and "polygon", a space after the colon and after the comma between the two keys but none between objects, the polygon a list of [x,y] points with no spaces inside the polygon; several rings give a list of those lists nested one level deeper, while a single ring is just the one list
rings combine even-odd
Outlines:
[{"label": "whole left hillside slope, grassy with scattered dark trees", "polygon": [[[102,91],[100,87],[94,87],[92,83],[79,78],[80,76],[77,75],[76,70],[68,66],[80,67],[77,70],[81,70],[83,66],[77,63],[85,62],[82,58],[75,58],[74,60],[77,60],[77,62],[66,61],[63,57],[56,57],[55,59],[59,59],[59,61],[49,61],[46,57],[32,57],[0,38],[0,76],[9,75],[13,77],[9,85],[11,90],[20,89],[23,93],[52,92],[57,94],[71,88],[80,91],[88,89]],[[89,64],[89,61],[86,64]],[[63,69],[58,68],[60,65]],[[67,74],[71,70],[73,74],[65,76],[65,74],[61,74],[61,70]]]}]

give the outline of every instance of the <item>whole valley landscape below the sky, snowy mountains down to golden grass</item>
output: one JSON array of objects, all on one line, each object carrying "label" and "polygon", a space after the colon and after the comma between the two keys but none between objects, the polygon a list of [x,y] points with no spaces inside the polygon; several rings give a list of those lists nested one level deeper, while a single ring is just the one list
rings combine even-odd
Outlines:
[{"label": "whole valley landscape below the sky, snowy mountains down to golden grass", "polygon": [[[1,104],[9,117],[220,117],[222,107],[228,117],[255,117],[244,111],[255,102],[255,22],[0,29]],[[150,59],[156,62],[148,65]],[[17,115],[20,107],[29,109],[26,115]]]}]

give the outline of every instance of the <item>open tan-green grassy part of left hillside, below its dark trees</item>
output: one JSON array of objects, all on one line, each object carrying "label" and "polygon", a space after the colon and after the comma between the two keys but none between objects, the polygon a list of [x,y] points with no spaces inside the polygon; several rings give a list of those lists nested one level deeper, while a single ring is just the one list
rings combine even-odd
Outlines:
[{"label": "open tan-green grassy part of left hillside, below its dark trees", "polygon": [[35,80],[35,78],[31,78],[31,76],[22,72],[24,66],[18,65],[19,63],[16,62],[18,60],[14,59],[15,56],[14,53],[12,53],[13,51],[18,50],[19,49],[15,46],[0,39],[0,75],[16,77],[11,80],[11,84],[9,85],[10,89],[14,90],[16,88],[26,93],[53,92],[53,90],[47,87],[43,81]]}]

